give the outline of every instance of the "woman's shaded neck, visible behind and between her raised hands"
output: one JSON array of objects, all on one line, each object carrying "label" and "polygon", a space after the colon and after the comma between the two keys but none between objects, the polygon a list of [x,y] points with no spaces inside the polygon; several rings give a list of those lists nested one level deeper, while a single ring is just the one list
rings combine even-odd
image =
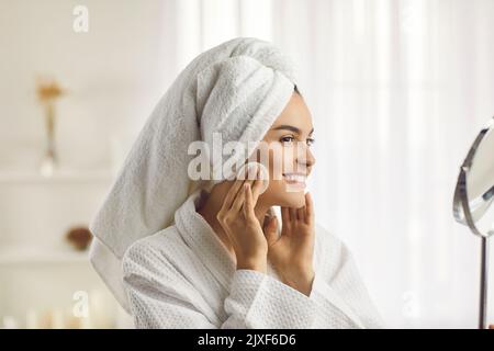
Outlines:
[{"label": "woman's shaded neck, visible behind and between her raised hands", "polygon": [[[232,244],[228,239],[228,236],[224,231],[220,222],[216,218],[217,213],[222,208],[223,201],[228,193],[231,184],[229,181],[225,181],[218,184],[215,184],[206,200],[203,202],[202,206],[198,208],[198,213],[203,216],[203,218],[207,222],[214,233],[218,236],[220,240],[223,242],[227,251],[235,258],[235,251],[233,250]],[[269,211],[270,206],[263,204],[261,201],[258,201],[255,206],[256,217],[259,220],[261,227],[263,227],[265,216]]]}]

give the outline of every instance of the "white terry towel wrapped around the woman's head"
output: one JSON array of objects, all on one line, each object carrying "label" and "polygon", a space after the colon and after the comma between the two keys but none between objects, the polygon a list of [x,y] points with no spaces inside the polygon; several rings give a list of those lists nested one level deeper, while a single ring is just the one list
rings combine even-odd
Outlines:
[{"label": "white terry towel wrapped around the woman's head", "polygon": [[[134,241],[170,226],[197,186],[188,174],[191,143],[214,152],[217,133],[222,145],[239,141],[250,156],[293,93],[293,67],[269,42],[234,38],[194,58],[158,102],[90,224],[91,262],[127,312],[120,260]],[[220,155],[213,183],[232,176],[221,174],[222,165],[242,157]]]}]

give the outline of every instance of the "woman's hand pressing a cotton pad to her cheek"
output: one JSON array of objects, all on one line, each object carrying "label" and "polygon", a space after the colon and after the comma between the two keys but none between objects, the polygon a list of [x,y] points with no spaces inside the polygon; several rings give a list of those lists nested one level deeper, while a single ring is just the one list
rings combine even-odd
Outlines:
[{"label": "woman's hand pressing a cotton pad to her cheek", "polygon": [[254,210],[262,180],[257,179],[259,167],[250,171],[256,173],[255,179],[246,177],[245,180],[238,179],[233,183],[216,218],[232,242],[237,269],[266,273],[268,242]]}]

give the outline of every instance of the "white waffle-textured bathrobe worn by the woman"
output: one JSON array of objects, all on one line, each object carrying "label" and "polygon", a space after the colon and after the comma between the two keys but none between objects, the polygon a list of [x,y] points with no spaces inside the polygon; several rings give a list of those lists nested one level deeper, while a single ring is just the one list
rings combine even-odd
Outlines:
[{"label": "white waffle-textured bathrobe worn by the woman", "polygon": [[197,190],[172,226],[135,241],[123,256],[123,283],[136,328],[381,328],[347,247],[316,226],[310,296],[267,274],[236,270],[197,212]]}]

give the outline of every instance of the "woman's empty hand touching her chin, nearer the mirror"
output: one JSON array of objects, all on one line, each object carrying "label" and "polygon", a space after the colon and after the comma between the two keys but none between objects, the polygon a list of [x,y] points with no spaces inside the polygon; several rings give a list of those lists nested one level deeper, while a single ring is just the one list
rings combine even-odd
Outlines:
[{"label": "woman's empty hand touching her chin, nearer the mirror", "polygon": [[315,241],[314,205],[305,194],[305,206],[281,207],[282,229],[278,238],[278,218],[271,217],[265,226],[268,258],[283,283],[305,295],[312,291],[314,280],[313,253]]}]

